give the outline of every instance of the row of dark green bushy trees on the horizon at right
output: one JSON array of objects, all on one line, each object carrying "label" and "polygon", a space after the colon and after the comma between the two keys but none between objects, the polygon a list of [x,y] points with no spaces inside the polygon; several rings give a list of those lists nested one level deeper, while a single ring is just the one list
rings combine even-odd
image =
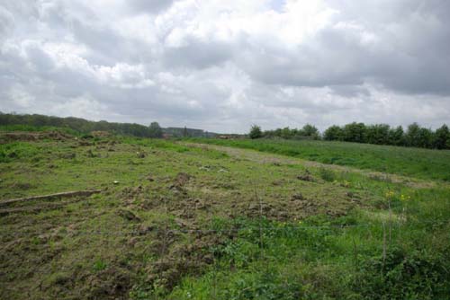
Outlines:
[{"label": "row of dark green bushy trees on the horizon at right", "polygon": [[365,125],[365,123],[353,122],[344,126],[330,126],[323,134],[320,134],[320,131],[311,124],[307,124],[301,129],[277,128],[266,131],[262,131],[259,126],[254,125],[248,136],[250,138],[309,138],[375,145],[450,149],[450,130],[446,124],[432,130],[421,127],[418,123],[413,123],[405,130],[401,126],[392,128],[387,124]]}]

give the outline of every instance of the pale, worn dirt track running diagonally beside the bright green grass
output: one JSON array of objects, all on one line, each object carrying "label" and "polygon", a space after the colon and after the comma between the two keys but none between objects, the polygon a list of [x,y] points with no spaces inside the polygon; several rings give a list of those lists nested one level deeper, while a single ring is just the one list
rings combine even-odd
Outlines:
[{"label": "pale, worn dirt track running diagonally beside the bright green grass", "polygon": [[[198,143],[182,143],[184,146],[194,146],[200,147],[204,149],[213,149],[217,151],[224,152],[229,154],[232,157],[236,157],[239,159],[245,159],[255,163],[280,163],[280,164],[301,164],[305,167],[311,168],[326,168],[337,172],[356,172],[362,175],[365,175],[369,178],[379,181],[391,181],[394,183],[401,183],[407,185],[411,188],[416,189],[427,189],[434,188],[437,186],[436,181],[426,181],[419,180],[416,178],[401,176],[397,174],[384,173],[384,172],[374,172],[369,170],[362,170],[348,166],[342,166],[337,164],[326,164],[326,163],[318,163],[313,161],[303,160],[301,158],[294,158],[289,156],[284,156],[280,154],[269,154],[264,152],[259,152],[257,150],[251,149],[242,149],[230,146],[217,146],[217,145],[209,145],[209,144],[198,144]],[[444,182],[439,183],[440,185],[448,185]]]}]

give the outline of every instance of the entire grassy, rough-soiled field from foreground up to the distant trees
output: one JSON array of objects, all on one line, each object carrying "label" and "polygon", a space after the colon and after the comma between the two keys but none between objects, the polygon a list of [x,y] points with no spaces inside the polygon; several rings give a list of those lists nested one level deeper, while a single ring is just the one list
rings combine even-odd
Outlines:
[{"label": "entire grassy, rough-soiled field from foreground up to the distant trees", "polygon": [[449,151],[0,140],[2,299],[449,298]]}]

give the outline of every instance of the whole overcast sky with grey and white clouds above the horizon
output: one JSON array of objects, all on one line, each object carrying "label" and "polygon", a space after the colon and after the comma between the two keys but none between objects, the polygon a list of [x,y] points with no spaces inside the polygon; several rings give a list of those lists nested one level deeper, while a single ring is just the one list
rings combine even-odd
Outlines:
[{"label": "whole overcast sky with grey and white clouds above the horizon", "polygon": [[450,124],[447,0],[0,0],[0,111],[243,133]]}]

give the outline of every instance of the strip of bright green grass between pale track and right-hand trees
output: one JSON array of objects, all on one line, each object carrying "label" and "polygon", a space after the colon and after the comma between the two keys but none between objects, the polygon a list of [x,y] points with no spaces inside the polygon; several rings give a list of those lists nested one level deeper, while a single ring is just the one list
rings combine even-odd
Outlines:
[{"label": "strip of bright green grass between pale track and right-hand trees", "polygon": [[193,142],[283,154],[319,163],[388,172],[420,179],[450,181],[450,151],[346,142],[189,139]]}]

